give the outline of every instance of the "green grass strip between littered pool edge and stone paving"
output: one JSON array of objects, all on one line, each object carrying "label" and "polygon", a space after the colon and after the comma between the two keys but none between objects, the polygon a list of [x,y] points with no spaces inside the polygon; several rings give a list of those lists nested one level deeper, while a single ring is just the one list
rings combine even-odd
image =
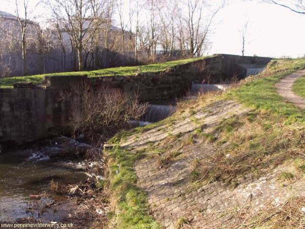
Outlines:
[{"label": "green grass strip between littered pool edge and stone paving", "polygon": [[115,202],[115,228],[160,228],[150,215],[146,193],[136,186],[134,164],[144,151],[130,151],[116,147],[108,151],[108,178],[112,201]]}]

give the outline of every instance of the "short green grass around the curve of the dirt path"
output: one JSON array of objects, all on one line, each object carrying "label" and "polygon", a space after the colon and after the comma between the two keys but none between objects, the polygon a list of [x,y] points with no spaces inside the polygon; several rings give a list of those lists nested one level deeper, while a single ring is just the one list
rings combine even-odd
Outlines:
[{"label": "short green grass around the curve of the dirt path", "polygon": [[275,83],[280,79],[301,69],[305,69],[304,59],[271,61],[267,70],[253,78],[256,80],[231,90],[227,98],[235,99],[256,110],[267,110],[285,117],[287,124],[305,123],[305,111],[285,102],[285,99],[278,95],[275,87]]}]

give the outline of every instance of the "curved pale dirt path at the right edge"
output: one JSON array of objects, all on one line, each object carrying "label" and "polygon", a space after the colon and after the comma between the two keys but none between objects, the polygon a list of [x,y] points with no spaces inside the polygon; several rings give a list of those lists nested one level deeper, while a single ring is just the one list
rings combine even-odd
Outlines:
[{"label": "curved pale dirt path at the right edge", "polygon": [[292,91],[292,85],[295,80],[305,75],[305,70],[297,71],[286,76],[276,83],[277,91],[280,96],[288,100],[289,102],[297,105],[298,107],[305,109],[305,99],[294,94]]}]

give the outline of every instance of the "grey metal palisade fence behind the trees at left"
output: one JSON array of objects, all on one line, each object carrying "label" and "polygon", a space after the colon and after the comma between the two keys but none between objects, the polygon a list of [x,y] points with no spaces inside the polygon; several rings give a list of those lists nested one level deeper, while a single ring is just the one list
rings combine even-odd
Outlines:
[{"label": "grey metal palisade fence behind the trees at left", "polygon": [[[142,58],[144,53],[138,53]],[[78,66],[74,61],[74,53],[56,51],[51,53],[27,53],[27,74],[45,74],[54,72],[72,71]],[[135,65],[134,52],[117,53],[101,50],[94,53],[82,53],[84,69],[98,69],[118,66]],[[0,56],[0,77],[23,75],[23,60],[21,53],[5,54]]]}]

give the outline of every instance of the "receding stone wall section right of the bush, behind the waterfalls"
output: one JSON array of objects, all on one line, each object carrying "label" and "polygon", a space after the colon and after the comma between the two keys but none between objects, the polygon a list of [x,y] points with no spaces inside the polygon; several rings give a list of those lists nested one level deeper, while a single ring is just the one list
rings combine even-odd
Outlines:
[{"label": "receding stone wall section right of the bush, behind the waterfalls", "polygon": [[[224,83],[233,76],[246,77],[247,69],[240,64],[266,65],[271,58],[218,54],[203,60],[176,66],[163,72],[140,73],[135,76],[88,78],[96,87],[118,88],[138,94],[141,101],[177,98],[191,88],[192,82]],[[93,86],[94,87],[94,86]]]}]

